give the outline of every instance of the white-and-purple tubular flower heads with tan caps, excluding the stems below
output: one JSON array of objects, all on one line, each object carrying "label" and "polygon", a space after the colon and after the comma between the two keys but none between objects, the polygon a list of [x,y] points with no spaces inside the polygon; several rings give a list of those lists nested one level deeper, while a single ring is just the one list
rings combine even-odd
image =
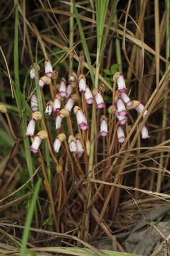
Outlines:
[{"label": "white-and-purple tubular flower heads with tan caps, excluding the stems below", "polygon": [[[37,68],[37,71],[39,71],[39,66]],[[30,76],[31,79],[35,78],[35,64],[31,66]],[[53,71],[53,67],[50,60],[46,59],[45,75],[40,77],[39,79],[40,88],[43,88],[45,84],[50,85],[52,83],[51,79],[57,79],[57,72]],[[124,143],[126,137],[123,125],[125,125],[125,123],[128,122],[129,110],[135,109],[137,110],[138,113],[141,113],[145,106],[143,106],[141,102],[133,101],[129,98],[127,94],[125,79],[122,73],[115,73],[113,76],[113,80],[117,83],[117,90],[114,92],[113,105],[109,106],[108,112],[109,114],[115,115],[115,117],[118,119],[119,123],[117,126],[117,139],[118,142]],[[77,77],[75,73],[71,73],[68,84],[65,78],[62,78],[59,84],[57,84],[56,88],[54,89],[54,93],[56,93],[56,95],[54,94],[55,97],[47,102],[45,108],[45,114],[47,117],[54,115],[54,117],[56,118],[56,130],[58,135],[53,145],[54,152],[56,152],[57,154],[59,152],[59,148],[62,145],[62,142],[66,141],[66,135],[63,132],[61,133],[62,119],[66,118],[68,125],[69,120],[71,122],[70,114],[74,107],[73,112],[76,117],[76,123],[78,126],[79,133],[76,134],[76,136],[74,137],[73,129],[71,127],[72,133],[69,135],[68,138],[69,148],[71,152],[75,152],[75,154],[81,156],[84,153],[84,146],[86,146],[86,151],[89,153],[90,146],[84,145],[82,141],[82,135],[80,133],[80,130],[86,131],[90,127],[89,120],[87,117],[87,106],[84,106],[84,104],[95,104],[96,109],[105,109],[104,85],[99,85],[99,88],[94,88],[91,92],[91,89],[88,87],[86,83],[86,78],[84,77],[84,75],[80,75],[79,77]],[[26,135],[32,137],[36,127],[36,121],[42,118],[41,113],[38,111],[39,105],[35,94],[32,94],[31,97],[31,109],[33,113],[28,123]],[[86,112],[84,112],[84,109],[86,109]],[[102,115],[100,118],[101,137],[106,137],[109,133],[108,118],[106,117],[105,113],[106,111],[104,110],[104,115]],[[147,110],[145,110],[145,112],[143,113],[143,118],[145,117],[146,113]],[[141,133],[142,139],[149,138],[146,126],[143,127]],[[30,150],[32,152],[37,152],[39,145],[41,143],[40,139],[41,138],[38,133],[35,137],[35,140],[33,141],[32,146],[30,147]],[[88,135],[87,142],[89,143],[86,144],[90,144]]]}]

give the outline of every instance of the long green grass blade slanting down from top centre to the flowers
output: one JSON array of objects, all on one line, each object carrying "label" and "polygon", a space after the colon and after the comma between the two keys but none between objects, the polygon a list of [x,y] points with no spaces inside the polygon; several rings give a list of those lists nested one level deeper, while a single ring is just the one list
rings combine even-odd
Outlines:
[{"label": "long green grass blade slanting down from top centre to the flowers", "polygon": [[88,51],[86,38],[84,36],[83,27],[82,27],[82,24],[80,22],[78,10],[77,10],[76,5],[75,5],[75,0],[72,0],[72,1],[73,1],[74,13],[75,13],[75,16],[76,16],[76,22],[77,22],[78,28],[79,28],[80,38],[82,40],[82,46],[83,46],[83,49],[84,49],[84,54],[86,56],[86,60],[87,60],[88,67],[89,67],[89,70],[90,70],[91,79],[92,79],[92,82],[94,84],[95,76],[94,76],[94,71],[93,71],[92,64],[91,64],[90,53]]}]

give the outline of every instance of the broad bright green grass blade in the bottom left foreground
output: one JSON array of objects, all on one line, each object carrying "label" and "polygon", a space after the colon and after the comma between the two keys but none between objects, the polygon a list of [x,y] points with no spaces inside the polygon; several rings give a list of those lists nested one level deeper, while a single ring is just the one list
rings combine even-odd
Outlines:
[{"label": "broad bright green grass blade in the bottom left foreground", "polygon": [[22,244],[21,244],[21,247],[20,247],[20,256],[24,256],[25,251],[27,249],[29,228],[31,226],[33,212],[34,212],[35,207],[36,207],[36,200],[37,200],[37,197],[39,195],[40,185],[41,185],[41,179],[39,179],[37,181],[37,184],[35,185],[35,190],[34,190],[34,193],[33,193],[33,197],[32,197],[31,203],[30,203],[29,208],[28,208],[27,218],[26,218],[26,221],[25,221],[25,228],[24,228],[23,237],[22,237]]}]

